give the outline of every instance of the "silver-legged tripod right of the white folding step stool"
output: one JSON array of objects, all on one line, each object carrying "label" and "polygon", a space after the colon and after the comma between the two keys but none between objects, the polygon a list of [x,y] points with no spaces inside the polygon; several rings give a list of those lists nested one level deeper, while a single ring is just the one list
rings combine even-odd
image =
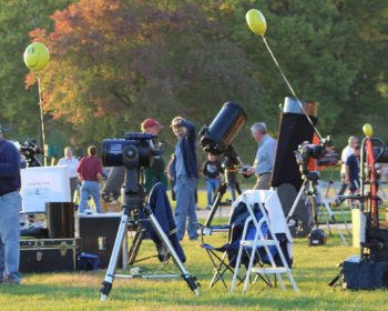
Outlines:
[{"label": "silver-legged tripod right of the white folding step stool", "polygon": [[[336,224],[338,233],[344,241],[344,244],[347,247],[348,244],[343,235],[343,232],[340,231],[340,229],[338,227],[336,218],[334,217],[334,213],[333,213],[329,204],[327,203],[326,198],[325,198],[325,195],[324,195],[324,193],[318,184],[318,179],[320,177],[319,172],[310,171],[310,172],[304,174],[303,177],[304,177],[304,181],[303,181],[302,188],[300,188],[299,193],[296,197],[295,202],[294,202],[294,204],[293,204],[293,207],[292,207],[292,209],[286,218],[286,222],[288,223],[288,220],[293,217],[294,211],[302,199],[302,195],[306,194],[313,202],[312,214],[313,214],[315,228],[318,228],[319,223],[318,223],[318,217],[317,217],[317,210],[316,210],[317,203],[316,203],[316,198],[315,198],[318,194],[318,195],[320,195],[321,201],[324,202],[328,213],[330,214],[333,222]],[[307,183],[309,184],[308,190],[306,190]]]}]

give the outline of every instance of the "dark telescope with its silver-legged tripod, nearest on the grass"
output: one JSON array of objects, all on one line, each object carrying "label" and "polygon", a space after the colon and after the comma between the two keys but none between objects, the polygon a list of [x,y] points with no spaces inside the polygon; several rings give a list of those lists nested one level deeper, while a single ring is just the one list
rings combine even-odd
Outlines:
[{"label": "dark telescope with its silver-legged tripod, nearest on the grass", "polygon": [[[116,240],[114,242],[112,257],[106,270],[106,275],[102,282],[100,292],[102,293],[101,301],[105,301],[109,295],[113,281],[115,279],[133,279],[133,278],[176,278],[182,277],[190,289],[200,295],[197,285],[195,283],[196,278],[191,275],[184,268],[180,257],[172,247],[171,241],[161,228],[157,219],[155,218],[152,209],[144,204],[145,191],[141,184],[141,168],[151,167],[153,158],[163,153],[163,148],[156,149],[152,142],[152,139],[157,136],[149,133],[126,133],[124,139],[105,139],[102,144],[102,160],[105,167],[125,167],[126,178],[125,187],[122,188],[122,198],[124,205],[121,223],[119,227]],[[162,147],[162,146],[161,146]],[[125,275],[114,274],[120,245],[122,244],[124,234],[127,234],[129,222],[136,221],[137,215],[144,213],[155,230],[159,239],[162,241],[170,255],[173,258],[174,263],[181,271],[181,274],[167,274],[167,275]]]}]

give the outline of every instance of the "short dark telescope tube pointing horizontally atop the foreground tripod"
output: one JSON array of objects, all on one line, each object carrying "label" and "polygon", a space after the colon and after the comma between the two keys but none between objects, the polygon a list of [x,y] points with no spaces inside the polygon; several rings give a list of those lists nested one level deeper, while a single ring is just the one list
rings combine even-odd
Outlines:
[{"label": "short dark telescope tube pointing horizontally atop the foreground tripod", "polygon": [[125,167],[130,170],[147,168],[154,157],[164,152],[164,144],[155,146],[157,136],[150,133],[125,133],[124,139],[102,141],[102,162],[105,167]]}]

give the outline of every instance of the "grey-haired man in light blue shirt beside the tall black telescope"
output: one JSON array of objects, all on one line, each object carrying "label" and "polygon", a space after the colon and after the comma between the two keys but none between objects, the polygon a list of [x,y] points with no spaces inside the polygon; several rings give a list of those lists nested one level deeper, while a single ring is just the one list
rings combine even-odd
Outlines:
[{"label": "grey-haired man in light blue shirt beside the tall black telescope", "polygon": [[256,158],[253,167],[247,167],[245,174],[255,173],[257,181],[254,190],[269,190],[270,174],[274,167],[277,142],[268,136],[264,122],[251,127],[252,137],[258,142]]}]

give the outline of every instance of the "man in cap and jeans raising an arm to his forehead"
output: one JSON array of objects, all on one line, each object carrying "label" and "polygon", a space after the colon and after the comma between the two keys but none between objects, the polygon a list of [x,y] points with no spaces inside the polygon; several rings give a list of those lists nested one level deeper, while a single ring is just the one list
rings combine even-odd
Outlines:
[{"label": "man in cap and jeans raising an arm to his forehead", "polygon": [[195,148],[197,147],[195,126],[184,120],[182,117],[175,117],[171,122],[171,128],[178,141],[175,147],[175,223],[176,237],[183,240],[186,230],[186,220],[188,218],[187,233],[192,241],[198,239],[195,213],[195,189],[198,179],[198,168],[196,162]]}]

